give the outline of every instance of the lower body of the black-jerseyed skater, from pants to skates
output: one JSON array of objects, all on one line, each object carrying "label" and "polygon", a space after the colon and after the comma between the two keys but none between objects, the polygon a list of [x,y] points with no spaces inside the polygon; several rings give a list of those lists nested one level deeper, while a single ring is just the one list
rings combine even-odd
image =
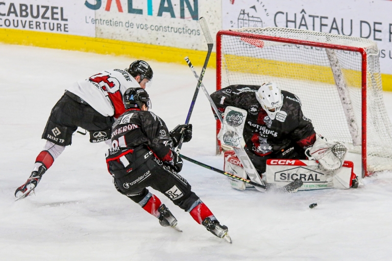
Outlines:
[{"label": "lower body of the black-jerseyed skater, from pants to skates", "polygon": [[[136,157],[136,154],[145,155]],[[148,192],[146,187],[150,186],[165,194],[175,205],[189,212],[192,218],[197,223],[203,224],[208,231],[217,237],[229,239],[227,227],[219,223],[210,209],[191,191],[191,185],[187,180],[176,173],[171,166],[165,165],[152,153],[146,154],[143,150],[139,152],[135,150],[132,158],[129,153],[124,156],[127,158],[125,163],[127,166],[122,165],[125,160],[117,161],[115,155],[106,158],[108,160],[112,157],[108,161],[108,169],[115,177],[114,183],[120,193],[128,196],[148,213],[157,217],[161,225],[176,228],[177,219],[157,196]],[[146,160],[142,159],[142,165],[136,164],[137,167],[131,168],[135,166],[139,158]]]}]

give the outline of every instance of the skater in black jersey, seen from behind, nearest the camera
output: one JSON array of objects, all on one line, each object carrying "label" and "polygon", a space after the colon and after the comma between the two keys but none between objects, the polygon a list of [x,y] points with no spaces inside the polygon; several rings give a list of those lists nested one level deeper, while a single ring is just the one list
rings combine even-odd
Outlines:
[{"label": "skater in black jersey, seen from behind, nearest the camera", "polygon": [[184,135],[192,138],[192,125],[178,125],[168,131],[165,122],[148,111],[149,97],[142,88],[126,90],[125,113],[113,124],[112,148],[106,155],[108,171],[116,189],[159,219],[162,226],[181,231],[169,209],[151,194],[151,187],[181,209],[212,234],[231,242],[227,227],[221,225],[208,207],[191,190],[191,185],[178,172],[182,159],[174,152]]}]

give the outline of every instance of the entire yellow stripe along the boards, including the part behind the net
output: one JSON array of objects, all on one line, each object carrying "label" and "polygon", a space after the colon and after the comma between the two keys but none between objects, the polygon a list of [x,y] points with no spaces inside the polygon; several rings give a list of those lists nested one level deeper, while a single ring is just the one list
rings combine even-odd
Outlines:
[{"label": "entire yellow stripe along the boards, including the part behind the net", "polygon": [[[189,56],[191,62],[195,66],[202,66],[207,54],[206,51],[196,51],[183,48],[175,48],[168,46],[160,46],[146,43],[133,43],[119,40],[102,39],[95,37],[75,36],[66,34],[55,34],[47,32],[37,32],[29,30],[6,29],[0,28],[0,42],[10,44],[32,45],[39,47],[75,50],[83,52],[93,52],[99,54],[121,55],[136,59],[154,60],[165,63],[185,64],[184,57]],[[226,60],[233,60],[233,55],[225,55]],[[238,59],[238,57],[236,58]],[[284,77],[298,80],[310,80],[323,83],[334,84],[332,72],[329,67],[317,65],[301,65],[280,61],[271,61],[260,58],[246,57],[246,66],[244,61],[236,61],[228,68],[229,70],[248,73],[261,73],[260,64],[268,64],[263,66],[265,70],[263,74]],[[216,53],[212,53],[208,67],[216,67]],[[278,74],[278,71],[283,71]],[[303,70],[309,74],[304,75]],[[299,73],[302,71],[302,73]],[[344,69],[343,69],[344,71]],[[344,71],[346,82],[349,86],[360,87],[360,72],[351,70]],[[351,77],[352,76],[352,77]],[[355,79],[355,80],[353,80]],[[381,74],[383,90],[392,91],[392,75]]]}]

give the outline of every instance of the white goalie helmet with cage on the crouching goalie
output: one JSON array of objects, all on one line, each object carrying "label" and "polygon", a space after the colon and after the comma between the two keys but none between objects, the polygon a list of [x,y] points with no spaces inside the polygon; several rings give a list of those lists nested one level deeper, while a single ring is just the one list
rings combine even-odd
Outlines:
[{"label": "white goalie helmet with cage on the crouching goalie", "polygon": [[[275,83],[264,83],[256,92],[256,99],[261,107],[267,112],[270,118],[275,118],[275,114],[282,109],[283,95],[280,88]],[[272,116],[272,117],[271,117]]]}]

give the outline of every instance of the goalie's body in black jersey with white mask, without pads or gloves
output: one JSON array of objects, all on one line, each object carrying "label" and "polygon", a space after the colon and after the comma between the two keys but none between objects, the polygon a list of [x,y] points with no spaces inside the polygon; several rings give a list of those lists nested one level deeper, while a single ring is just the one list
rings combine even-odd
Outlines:
[{"label": "goalie's body in black jersey with white mask, without pads or gloves", "polygon": [[306,159],[305,149],[316,141],[299,98],[275,83],[231,85],[212,93],[211,98],[222,115],[227,106],[247,111],[245,151],[260,175],[266,171],[267,159]]}]

